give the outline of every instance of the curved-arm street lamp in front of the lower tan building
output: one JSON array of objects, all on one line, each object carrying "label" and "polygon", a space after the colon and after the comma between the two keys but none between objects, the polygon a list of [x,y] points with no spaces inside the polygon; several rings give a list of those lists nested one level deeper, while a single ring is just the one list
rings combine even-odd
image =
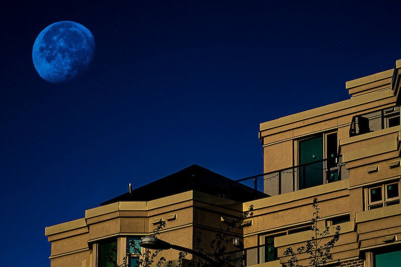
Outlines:
[{"label": "curved-arm street lamp in front of the lower tan building", "polygon": [[[218,262],[216,262],[214,259],[204,255],[203,253],[200,253],[198,251],[195,251],[193,249],[187,248],[187,247],[183,247],[180,245],[174,245],[174,244],[170,244],[169,242],[166,242],[164,240],[158,239],[157,237],[153,237],[153,236],[148,236],[148,237],[143,237],[142,240],[139,242],[139,245],[141,247],[144,248],[150,248],[150,249],[157,249],[157,250],[163,250],[163,249],[176,249],[179,251],[183,251],[183,252],[187,252],[190,253],[192,255],[198,256],[200,258],[205,259],[206,261],[212,263],[212,266],[214,267],[222,267],[223,264],[219,264]],[[226,264],[229,264],[230,266],[234,267],[234,265],[226,262]]]}]

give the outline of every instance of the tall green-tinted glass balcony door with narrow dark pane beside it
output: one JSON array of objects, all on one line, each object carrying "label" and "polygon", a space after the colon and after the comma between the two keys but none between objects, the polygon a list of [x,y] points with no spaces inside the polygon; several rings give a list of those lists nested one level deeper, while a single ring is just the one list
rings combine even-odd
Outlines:
[{"label": "tall green-tinted glass balcony door with narrow dark pane beside it", "polygon": [[298,140],[298,189],[338,181],[337,133],[324,133]]}]

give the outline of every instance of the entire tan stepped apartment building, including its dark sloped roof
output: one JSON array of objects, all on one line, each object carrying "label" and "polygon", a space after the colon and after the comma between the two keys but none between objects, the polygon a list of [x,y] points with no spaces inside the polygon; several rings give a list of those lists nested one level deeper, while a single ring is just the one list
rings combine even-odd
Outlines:
[{"label": "entire tan stepped apartment building, including its dark sloped roof", "polygon": [[[317,197],[318,227],[333,234],[341,226],[329,266],[400,266],[400,69],[398,60],[393,69],[346,82],[348,100],[261,123],[262,175],[236,182],[193,165],[46,227],[51,265],[109,266],[110,251],[122,263],[127,244],[164,220],[160,239],[194,249],[202,231],[208,249],[225,221],[253,205],[254,215],[232,233],[243,242],[236,253],[246,266],[279,267],[287,247],[311,238]],[[174,260],[177,251],[160,255]]]}]

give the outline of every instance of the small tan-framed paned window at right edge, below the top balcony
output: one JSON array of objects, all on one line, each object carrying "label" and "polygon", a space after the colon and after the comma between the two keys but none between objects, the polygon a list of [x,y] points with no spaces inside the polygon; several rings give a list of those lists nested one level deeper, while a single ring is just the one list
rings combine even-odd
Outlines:
[{"label": "small tan-framed paned window at right edge, below the top balcony", "polygon": [[366,209],[381,208],[399,203],[399,182],[389,182],[365,189]]}]

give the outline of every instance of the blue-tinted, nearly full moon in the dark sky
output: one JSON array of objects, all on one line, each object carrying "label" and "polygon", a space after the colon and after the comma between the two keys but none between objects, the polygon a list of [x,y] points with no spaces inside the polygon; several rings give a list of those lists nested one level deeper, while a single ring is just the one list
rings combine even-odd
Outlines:
[{"label": "blue-tinted, nearly full moon in the dark sky", "polygon": [[95,53],[92,33],[76,22],[56,22],[36,38],[32,60],[47,82],[70,81],[88,69]]}]

